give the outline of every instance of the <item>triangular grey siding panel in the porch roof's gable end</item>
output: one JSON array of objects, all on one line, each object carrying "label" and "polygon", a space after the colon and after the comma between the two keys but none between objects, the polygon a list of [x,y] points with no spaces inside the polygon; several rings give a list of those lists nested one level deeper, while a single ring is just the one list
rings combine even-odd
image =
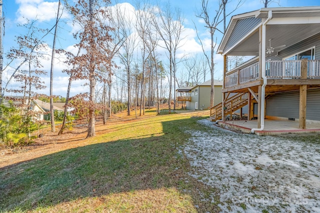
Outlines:
[{"label": "triangular grey siding panel in the porch roof's gable end", "polygon": [[237,20],[231,35],[225,44],[225,49],[233,46],[239,39],[251,31],[255,26],[261,22],[261,18],[249,17]]}]

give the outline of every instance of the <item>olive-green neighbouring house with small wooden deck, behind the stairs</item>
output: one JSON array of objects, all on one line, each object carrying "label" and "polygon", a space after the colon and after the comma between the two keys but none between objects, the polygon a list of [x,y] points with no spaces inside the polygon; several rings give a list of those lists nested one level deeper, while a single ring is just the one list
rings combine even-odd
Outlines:
[{"label": "olive-green neighbouring house with small wooden deck, behind the stairs", "polygon": [[[214,80],[214,103],[222,100],[222,81]],[[177,101],[182,104],[182,108],[188,110],[202,110],[210,107],[211,80],[205,81],[193,87],[179,87]]]}]

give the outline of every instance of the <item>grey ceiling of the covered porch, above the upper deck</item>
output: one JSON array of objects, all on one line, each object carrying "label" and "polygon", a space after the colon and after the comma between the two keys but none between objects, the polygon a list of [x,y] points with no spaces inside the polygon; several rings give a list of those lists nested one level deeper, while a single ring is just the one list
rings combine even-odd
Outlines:
[{"label": "grey ceiling of the covered porch, above the upper deck", "polygon": [[[309,24],[270,24],[266,25],[266,39],[265,46],[269,46],[269,39],[271,39],[271,46],[275,48],[273,54],[284,48],[298,43],[312,35],[320,32],[320,23]],[[236,45],[227,55],[258,55],[259,51],[259,31],[258,29],[247,37],[241,43]],[[277,48],[278,46],[283,46]],[[277,50],[277,51],[276,51]]]}]

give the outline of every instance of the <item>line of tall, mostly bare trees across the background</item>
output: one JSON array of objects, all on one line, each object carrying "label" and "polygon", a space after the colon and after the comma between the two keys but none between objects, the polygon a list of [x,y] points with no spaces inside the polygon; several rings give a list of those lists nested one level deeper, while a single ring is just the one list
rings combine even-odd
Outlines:
[{"label": "line of tall, mostly bare trees across the background", "polygon": [[[135,8],[121,6],[110,0],[59,0],[56,8],[56,21],[51,28],[39,29],[36,20],[27,20],[25,24],[17,27],[25,28],[25,34],[15,38],[16,45],[5,53],[8,62],[1,68],[1,72],[17,64],[7,83],[1,86],[0,102],[5,93],[16,93],[21,97],[20,105],[23,113],[32,120],[30,111],[31,100],[40,95],[35,90],[45,87],[41,76],[43,70],[41,60],[51,60],[50,69],[50,115],[51,130],[55,131],[53,112],[53,67],[55,55],[64,55],[67,69],[63,70],[69,76],[65,105],[75,107],[74,104],[85,103],[87,109],[88,132],[87,137],[94,136],[94,122],[96,112],[100,111],[103,123],[111,115],[111,100],[125,102],[127,115],[140,107],[139,116],[145,112],[145,107],[156,105],[159,112],[159,104],[166,102],[169,113],[171,103],[175,110],[175,89],[179,86],[192,86],[201,83],[207,73],[211,73],[213,82],[214,73],[214,47],[216,41],[215,32],[223,33],[225,30],[225,17],[233,12],[240,4],[225,13],[228,0],[216,0],[214,11],[208,10],[208,0],[201,0],[200,11],[196,16],[202,18],[205,27],[211,35],[211,52],[206,54],[200,37],[203,53],[198,56],[177,55],[183,40],[184,17],[178,8],[172,8],[168,2],[165,6],[155,7],[148,2],[137,1]],[[199,3],[199,4],[200,4]],[[2,0],[0,0],[2,10]],[[132,11],[126,11],[132,9]],[[63,13],[69,13],[73,25],[77,31],[73,32],[76,40],[74,44],[76,52],[68,52],[64,49],[56,49],[56,37],[59,37],[58,26]],[[212,15],[212,18],[211,18]],[[1,15],[1,29],[3,26]],[[224,20],[224,30],[219,30],[218,25]],[[2,32],[0,30],[2,43]],[[53,34],[53,43],[45,43],[48,35]],[[45,49],[51,48],[51,55],[45,53]],[[1,48],[2,49],[2,48]],[[1,52],[0,52],[1,53]],[[2,54],[1,54],[2,57]],[[2,59],[2,58],[1,58]],[[59,58],[61,60],[61,58]],[[2,60],[1,67],[2,67]],[[178,69],[184,72],[179,73]],[[179,74],[179,75],[178,75]],[[70,97],[71,84],[74,80],[85,80],[89,86],[89,92]],[[20,86],[9,88],[11,81]],[[2,74],[1,80],[2,83]],[[213,85],[211,85],[213,88]],[[112,97],[113,91],[113,97]],[[114,94],[115,91],[115,94]],[[72,99],[71,99],[72,98]],[[70,101],[73,100],[73,101]],[[213,103],[213,92],[211,92]],[[73,105],[72,105],[73,104]],[[67,111],[64,111],[63,124],[59,134],[63,133],[67,121]],[[3,112],[1,112],[3,114]]]}]

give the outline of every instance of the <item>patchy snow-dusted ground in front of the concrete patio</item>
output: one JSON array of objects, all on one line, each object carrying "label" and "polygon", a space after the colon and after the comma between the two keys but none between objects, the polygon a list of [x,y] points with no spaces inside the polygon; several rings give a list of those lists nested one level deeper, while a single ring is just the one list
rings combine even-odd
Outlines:
[{"label": "patchy snow-dusted ground in front of the concrete patio", "polygon": [[[212,188],[222,212],[320,212],[320,138],[256,136],[199,121],[181,148],[190,176]],[[209,128],[207,128],[209,127]],[[219,201],[214,201],[218,194]]]}]

